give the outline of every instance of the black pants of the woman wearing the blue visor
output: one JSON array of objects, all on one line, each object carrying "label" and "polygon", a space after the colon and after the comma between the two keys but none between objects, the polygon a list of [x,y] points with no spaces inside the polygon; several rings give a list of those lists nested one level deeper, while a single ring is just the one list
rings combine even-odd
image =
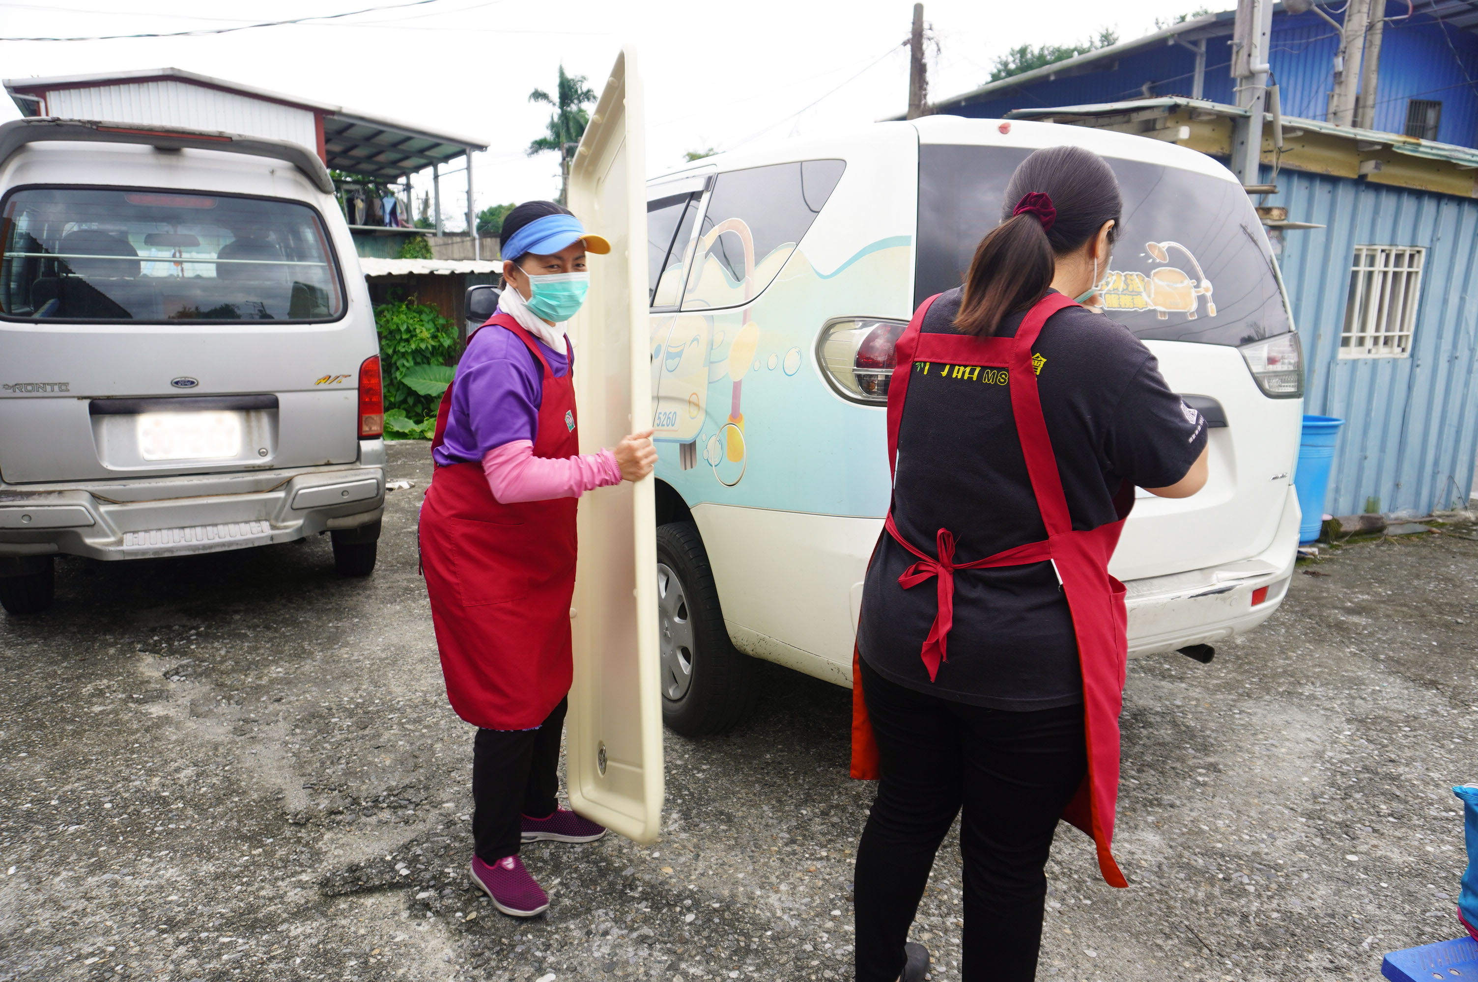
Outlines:
[{"label": "black pants of the woman wearing the blue visor", "polygon": [[562,698],[538,729],[479,729],[471,750],[473,851],[483,862],[517,855],[523,815],[544,818],[559,808]]}]

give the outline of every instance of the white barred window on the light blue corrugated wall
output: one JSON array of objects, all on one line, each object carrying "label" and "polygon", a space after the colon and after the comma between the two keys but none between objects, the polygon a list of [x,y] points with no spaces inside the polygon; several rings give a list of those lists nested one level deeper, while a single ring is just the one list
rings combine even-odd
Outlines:
[{"label": "white barred window on the light blue corrugated wall", "polygon": [[1409,357],[1426,250],[1357,245],[1339,357]]}]

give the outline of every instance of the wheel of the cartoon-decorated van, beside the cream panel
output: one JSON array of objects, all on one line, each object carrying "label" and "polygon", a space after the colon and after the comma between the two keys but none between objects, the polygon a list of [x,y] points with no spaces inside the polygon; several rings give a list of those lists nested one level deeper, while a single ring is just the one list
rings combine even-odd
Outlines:
[{"label": "wheel of the cartoon-decorated van, beside the cream panel", "polygon": [[754,710],[754,662],[729,641],[708,552],[692,521],[656,530],[662,722],[684,737],[733,729]]}]

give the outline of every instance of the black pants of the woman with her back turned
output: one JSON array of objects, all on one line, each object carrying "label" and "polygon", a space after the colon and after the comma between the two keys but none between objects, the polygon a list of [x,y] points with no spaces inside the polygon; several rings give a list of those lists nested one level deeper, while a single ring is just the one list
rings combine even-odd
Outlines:
[{"label": "black pants of the woman with her back turned", "polygon": [[1005,712],[896,685],[866,662],[882,780],[857,846],[857,982],[897,982],[934,854],[961,806],[965,982],[1032,982],[1048,852],[1088,768],[1083,707]]}]

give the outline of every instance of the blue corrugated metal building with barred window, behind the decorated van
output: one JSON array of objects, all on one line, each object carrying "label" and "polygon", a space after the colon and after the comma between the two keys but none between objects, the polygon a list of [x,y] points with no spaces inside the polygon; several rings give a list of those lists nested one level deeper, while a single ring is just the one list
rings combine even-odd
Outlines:
[{"label": "blue corrugated metal building with barred window, behind the decorated van", "polygon": [[[1386,16],[1364,127],[1324,121],[1339,31],[1315,12],[1273,18],[1284,142],[1264,128],[1262,180],[1277,192],[1255,204],[1304,343],[1305,412],[1346,421],[1330,514],[1429,514],[1468,507],[1474,490],[1478,3],[1392,1]],[[1116,128],[1225,161],[1247,115],[1233,105],[1233,19],[1188,21],[931,111]]]}]

